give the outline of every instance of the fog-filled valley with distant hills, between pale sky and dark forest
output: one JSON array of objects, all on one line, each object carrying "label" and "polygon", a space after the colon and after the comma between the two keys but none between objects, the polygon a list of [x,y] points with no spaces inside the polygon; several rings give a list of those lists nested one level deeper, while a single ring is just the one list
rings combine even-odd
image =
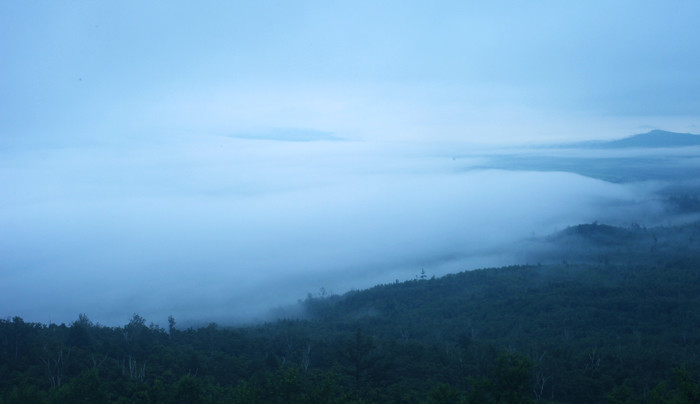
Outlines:
[{"label": "fog-filled valley with distant hills, between pale sky and dark forest", "polygon": [[7,149],[0,307],[225,325],[288,316],[321,288],[535,263],[548,247],[533,243],[570,226],[697,220],[698,138],[487,147],[275,129]]}]

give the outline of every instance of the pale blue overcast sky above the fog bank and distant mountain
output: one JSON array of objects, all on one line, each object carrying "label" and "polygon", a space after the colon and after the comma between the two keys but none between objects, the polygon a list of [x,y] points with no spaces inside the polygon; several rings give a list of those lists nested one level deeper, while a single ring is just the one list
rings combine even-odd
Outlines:
[{"label": "pale blue overcast sky above the fog bank and distant mountain", "polygon": [[698,19],[694,1],[7,1],[0,128],[39,143],[698,132]]}]

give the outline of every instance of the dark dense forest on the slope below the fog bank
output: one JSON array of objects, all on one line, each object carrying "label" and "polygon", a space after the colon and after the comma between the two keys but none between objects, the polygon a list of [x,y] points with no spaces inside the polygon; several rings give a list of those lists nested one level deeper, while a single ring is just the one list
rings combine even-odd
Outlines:
[{"label": "dark dense forest on the slope below the fog bank", "polygon": [[700,402],[700,222],[574,226],[528,261],[257,325],[0,320],[0,402]]}]

